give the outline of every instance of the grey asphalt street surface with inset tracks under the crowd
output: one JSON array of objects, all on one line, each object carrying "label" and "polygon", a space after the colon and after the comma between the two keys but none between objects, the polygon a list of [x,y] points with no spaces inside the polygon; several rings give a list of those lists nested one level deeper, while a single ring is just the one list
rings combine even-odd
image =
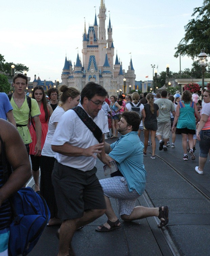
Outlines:
[{"label": "grey asphalt street surface with inset tracks under the crowd", "polygon": [[[143,134],[141,140],[144,140]],[[107,140],[108,143],[112,141],[115,139]],[[166,228],[157,228],[159,220],[149,217],[132,222],[122,221],[122,228],[112,232],[96,232],[95,228],[106,222],[104,215],[75,233],[72,246],[76,256],[169,256],[172,254],[168,248],[177,256],[210,256],[210,200],[197,189],[210,194],[209,157],[204,174],[199,175],[194,170],[198,165],[198,143],[193,161],[190,156],[188,161],[182,159],[181,135],[176,137],[175,148],[167,149],[167,152],[159,151],[156,145],[156,155],[159,157],[151,159],[151,146],[148,147],[147,156],[144,157],[146,189],[136,201],[136,205],[146,206],[146,202],[150,207],[168,205],[169,223]],[[99,179],[105,178],[103,164],[99,160],[96,167]],[[116,201],[111,202],[117,213]],[[46,227],[28,255],[56,256],[59,243],[57,228]]]}]

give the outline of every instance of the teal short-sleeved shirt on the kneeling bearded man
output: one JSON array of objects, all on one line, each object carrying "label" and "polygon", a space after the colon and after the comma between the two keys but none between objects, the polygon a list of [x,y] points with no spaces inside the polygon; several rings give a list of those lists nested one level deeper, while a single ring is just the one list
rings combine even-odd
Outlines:
[{"label": "teal short-sleeved shirt on the kneeling bearded man", "polygon": [[109,156],[117,161],[120,172],[125,177],[129,191],[136,190],[140,195],[144,192],[147,172],[144,169],[143,149],[138,132],[122,135],[110,145]]}]

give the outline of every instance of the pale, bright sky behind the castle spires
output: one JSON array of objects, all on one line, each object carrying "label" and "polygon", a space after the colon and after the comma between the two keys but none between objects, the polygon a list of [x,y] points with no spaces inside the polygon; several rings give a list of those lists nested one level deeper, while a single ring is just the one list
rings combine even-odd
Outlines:
[{"label": "pale, bright sky behind the castle spires", "polygon": [[[84,22],[94,23],[101,0],[10,0],[2,1],[0,54],[6,62],[22,63],[41,80],[61,82],[65,56],[72,65],[82,57]],[[132,57],[136,81],[152,80],[154,71],[179,72],[175,47],[185,35],[193,8],[203,0],[105,0],[106,28],[112,25],[114,62],[116,53],[128,70]],[[96,7],[94,7],[96,6]],[[99,19],[97,17],[99,25]],[[106,36],[108,38],[108,36]],[[78,48],[78,49],[76,49]],[[131,52],[131,54],[129,54]],[[199,52],[198,52],[199,54]],[[181,69],[191,68],[192,59],[181,57]],[[146,76],[149,76],[146,78]]]}]

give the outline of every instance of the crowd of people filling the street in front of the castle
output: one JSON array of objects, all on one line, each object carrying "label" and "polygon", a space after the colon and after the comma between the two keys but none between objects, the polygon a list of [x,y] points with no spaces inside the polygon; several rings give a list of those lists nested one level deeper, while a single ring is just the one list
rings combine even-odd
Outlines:
[{"label": "crowd of people filling the street in front of the castle", "polygon": [[[159,150],[167,151],[167,147],[175,148],[176,134],[181,134],[185,161],[188,152],[191,160],[195,160],[197,139],[200,153],[195,171],[203,174],[210,154],[210,90],[202,91],[203,101],[199,102],[198,95],[192,96],[188,90],[174,96],[162,90],[161,94],[133,92],[109,97],[102,86],[93,82],[87,83],[81,92],[61,85],[50,88],[47,95],[42,86],[36,86],[30,98],[25,95],[27,77],[23,74],[14,76],[13,86],[12,95],[0,93],[0,118],[11,123],[0,120],[0,144],[5,144],[6,157],[13,168],[7,183],[0,178],[0,239],[6,237],[5,252],[9,222],[1,225],[1,212],[7,207],[9,195],[27,181],[27,153],[32,163],[35,192],[44,197],[50,209],[47,225],[60,225],[58,256],[75,255],[71,248],[75,231],[103,214],[107,222],[96,231],[121,228],[110,198],[118,200],[119,216],[124,221],[156,216],[160,219],[159,227],[167,225],[167,206],[135,206],[145,189],[147,172],[143,159],[150,146],[149,137],[151,159],[155,159],[155,138]],[[8,143],[4,129],[14,133],[13,146],[13,142]],[[140,140],[141,133],[144,143]],[[112,144],[105,142],[108,137],[113,139]],[[17,147],[21,149],[13,159]],[[109,168],[115,162],[117,169],[109,178],[98,180],[97,157]],[[1,159],[0,166],[1,177]],[[15,178],[17,185],[14,185]],[[8,189],[9,184],[14,187]]]}]

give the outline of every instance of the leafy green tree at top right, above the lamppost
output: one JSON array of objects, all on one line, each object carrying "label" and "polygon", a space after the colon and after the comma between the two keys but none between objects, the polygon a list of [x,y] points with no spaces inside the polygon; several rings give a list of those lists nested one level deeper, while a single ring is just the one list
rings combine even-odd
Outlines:
[{"label": "leafy green tree at top right, above the lamppost", "polygon": [[187,55],[192,57],[198,56],[201,49],[205,49],[207,54],[210,53],[210,1],[204,0],[201,7],[194,8],[192,16],[195,16],[185,25],[185,36],[175,48],[174,57]]}]

